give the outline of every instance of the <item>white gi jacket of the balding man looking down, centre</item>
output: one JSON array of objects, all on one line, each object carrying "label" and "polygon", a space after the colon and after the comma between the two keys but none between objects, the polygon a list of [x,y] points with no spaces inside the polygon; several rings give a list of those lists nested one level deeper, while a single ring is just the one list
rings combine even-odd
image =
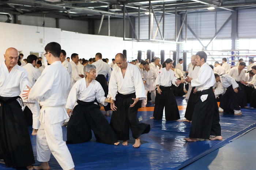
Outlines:
[{"label": "white gi jacket of the balding man looking down, centre", "polygon": [[136,98],[139,98],[140,100],[146,98],[146,92],[140,71],[133,64],[127,63],[124,78],[120,67],[115,67],[112,70],[109,80],[108,98],[112,97],[113,100],[116,100],[117,92],[124,95],[135,92]]}]

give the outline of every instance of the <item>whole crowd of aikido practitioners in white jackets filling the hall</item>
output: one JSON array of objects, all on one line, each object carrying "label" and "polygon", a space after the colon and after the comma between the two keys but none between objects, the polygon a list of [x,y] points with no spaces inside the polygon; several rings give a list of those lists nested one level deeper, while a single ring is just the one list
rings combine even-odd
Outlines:
[{"label": "whole crowd of aikido practitioners in white jackets filling the hall", "polygon": [[[73,170],[75,165],[67,144],[88,142],[91,130],[97,142],[127,146],[129,130],[140,147],[140,135],[150,131],[150,124],[140,123],[138,108],[146,107],[148,98],[154,105],[150,119],[191,122],[188,142],[222,140],[219,112],[241,115],[241,107],[256,108],[256,65],[244,71],[245,62],[230,68],[223,58],[222,66],[208,65],[207,54],[199,51],[191,56],[188,70],[182,59],[176,67],[172,59],[162,65],[160,58],[127,61],[118,53],[112,63],[101,53],[89,60],[74,53],[67,57],[60,44],[45,46],[47,65],[35,55],[18,54],[8,48],[0,63],[0,158],[7,166],[49,170],[50,154],[61,168]],[[19,65],[19,66],[18,66]],[[185,84],[188,91],[184,90]],[[180,119],[175,96],[188,99],[185,119]],[[220,101],[218,107],[217,99]],[[29,107],[33,114],[33,132],[37,135],[35,163],[26,119],[22,111]],[[112,110],[110,123],[105,115]],[[61,126],[67,126],[63,141]]]}]

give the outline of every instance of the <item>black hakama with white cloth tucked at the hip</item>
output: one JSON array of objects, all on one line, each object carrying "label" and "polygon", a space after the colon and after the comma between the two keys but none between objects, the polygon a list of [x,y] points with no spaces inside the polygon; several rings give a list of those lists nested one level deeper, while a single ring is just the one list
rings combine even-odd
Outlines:
[{"label": "black hakama with white cloth tucked at the hip", "polygon": [[[221,136],[219,124],[219,109],[212,87],[197,91],[195,110],[192,117],[190,138],[210,139],[210,135]],[[208,95],[202,102],[201,96]]]}]

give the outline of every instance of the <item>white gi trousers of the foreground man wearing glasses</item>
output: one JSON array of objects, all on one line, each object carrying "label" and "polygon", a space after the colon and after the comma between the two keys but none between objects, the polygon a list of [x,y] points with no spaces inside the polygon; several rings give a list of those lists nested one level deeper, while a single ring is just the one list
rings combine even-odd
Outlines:
[{"label": "white gi trousers of the foreground man wearing glasses", "polygon": [[37,161],[48,162],[52,153],[63,170],[70,170],[75,165],[63,141],[62,123],[50,124],[47,114],[44,114],[44,123],[41,122],[37,131]]}]

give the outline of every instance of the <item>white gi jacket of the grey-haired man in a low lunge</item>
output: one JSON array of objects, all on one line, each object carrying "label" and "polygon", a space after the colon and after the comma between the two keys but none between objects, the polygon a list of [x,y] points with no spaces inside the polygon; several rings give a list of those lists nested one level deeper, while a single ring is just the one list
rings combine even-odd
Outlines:
[{"label": "white gi jacket of the grey-haired man in a low lunge", "polygon": [[66,108],[73,110],[76,103],[76,96],[78,96],[78,100],[83,102],[93,102],[96,97],[99,103],[104,106],[108,105],[108,102],[104,102],[106,99],[105,92],[101,84],[96,80],[92,80],[87,88],[85,78],[78,80],[69,92]]}]

